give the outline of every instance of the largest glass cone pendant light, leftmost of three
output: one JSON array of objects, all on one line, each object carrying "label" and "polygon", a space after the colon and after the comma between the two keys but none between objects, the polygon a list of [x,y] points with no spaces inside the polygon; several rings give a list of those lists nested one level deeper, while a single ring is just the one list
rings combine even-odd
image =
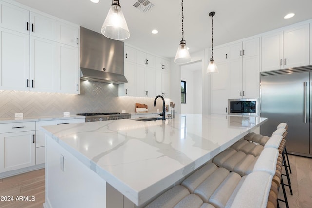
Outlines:
[{"label": "largest glass cone pendant light, leftmost of three", "polygon": [[121,11],[119,0],[112,0],[112,6],[108,11],[101,32],[107,38],[125,40],[130,37],[127,22]]}]

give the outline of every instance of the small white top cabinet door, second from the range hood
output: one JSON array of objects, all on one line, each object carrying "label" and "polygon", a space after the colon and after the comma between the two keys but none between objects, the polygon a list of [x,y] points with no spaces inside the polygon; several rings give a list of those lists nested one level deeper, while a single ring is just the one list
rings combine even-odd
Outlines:
[{"label": "small white top cabinet door, second from the range hood", "polygon": [[57,20],[30,13],[30,35],[48,40],[57,41]]}]

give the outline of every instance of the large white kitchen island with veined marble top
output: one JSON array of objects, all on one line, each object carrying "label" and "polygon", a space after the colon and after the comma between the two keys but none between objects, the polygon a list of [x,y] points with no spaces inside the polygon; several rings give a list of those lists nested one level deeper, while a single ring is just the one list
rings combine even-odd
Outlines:
[{"label": "large white kitchen island with veined marble top", "polygon": [[45,207],[143,207],[266,120],[185,114],[46,126]]}]

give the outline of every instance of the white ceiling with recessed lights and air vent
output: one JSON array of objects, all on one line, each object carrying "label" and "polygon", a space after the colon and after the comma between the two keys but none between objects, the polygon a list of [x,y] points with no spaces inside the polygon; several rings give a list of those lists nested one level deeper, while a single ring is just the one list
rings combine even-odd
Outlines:
[{"label": "white ceiling with recessed lights and air vent", "polygon": [[[100,33],[111,0],[15,0]],[[120,0],[130,38],[125,43],[153,54],[173,58],[181,40],[181,0],[150,0],[155,6],[143,13],[136,0]],[[190,53],[312,19],[312,0],[184,0],[184,39]],[[291,19],[283,19],[287,13]],[[154,35],[152,29],[159,33]]]}]

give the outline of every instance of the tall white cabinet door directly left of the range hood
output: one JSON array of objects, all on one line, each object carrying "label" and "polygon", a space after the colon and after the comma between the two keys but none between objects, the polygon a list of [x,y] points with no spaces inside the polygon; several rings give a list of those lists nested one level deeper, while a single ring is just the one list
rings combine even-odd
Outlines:
[{"label": "tall white cabinet door directly left of the range hood", "polygon": [[58,43],[58,92],[79,94],[79,48]]}]

